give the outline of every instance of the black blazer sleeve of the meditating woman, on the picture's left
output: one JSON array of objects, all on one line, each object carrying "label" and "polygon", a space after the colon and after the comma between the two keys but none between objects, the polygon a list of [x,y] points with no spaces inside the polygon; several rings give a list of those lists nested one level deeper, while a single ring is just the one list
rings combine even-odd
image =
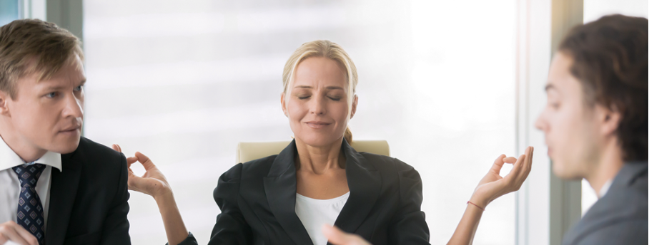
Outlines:
[{"label": "black blazer sleeve of the meditating woman, on the picture's left", "polygon": [[252,244],[252,229],[239,209],[242,168],[242,164],[234,165],[221,175],[214,189],[214,201],[219,205],[221,214],[217,216],[209,245]]}]

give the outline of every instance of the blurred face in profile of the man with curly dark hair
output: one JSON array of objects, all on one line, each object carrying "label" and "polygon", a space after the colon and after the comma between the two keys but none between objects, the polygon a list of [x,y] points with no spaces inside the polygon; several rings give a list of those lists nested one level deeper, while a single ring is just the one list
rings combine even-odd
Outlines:
[{"label": "blurred face in profile of the man with curly dark hair", "polygon": [[545,133],[553,172],[563,179],[586,177],[598,163],[602,142],[598,113],[585,102],[583,85],[570,73],[573,58],[557,53],[550,65],[548,105],[535,126]]}]

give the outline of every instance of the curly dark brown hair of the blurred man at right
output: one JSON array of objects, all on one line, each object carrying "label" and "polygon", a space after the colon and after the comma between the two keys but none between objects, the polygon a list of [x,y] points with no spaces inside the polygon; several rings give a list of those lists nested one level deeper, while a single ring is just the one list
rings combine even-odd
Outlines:
[{"label": "curly dark brown hair of the blurred man at right", "polygon": [[622,115],[616,134],[626,162],[649,159],[648,23],[604,16],[573,28],[559,47],[575,61],[570,72],[582,83],[586,103]]}]

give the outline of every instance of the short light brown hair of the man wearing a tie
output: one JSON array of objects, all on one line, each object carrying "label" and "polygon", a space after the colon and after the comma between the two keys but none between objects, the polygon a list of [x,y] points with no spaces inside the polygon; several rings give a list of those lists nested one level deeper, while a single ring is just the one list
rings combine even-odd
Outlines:
[{"label": "short light brown hair of the man wearing a tie", "polygon": [[76,56],[83,61],[81,41],[66,29],[38,19],[11,21],[0,27],[0,90],[15,99],[19,78],[49,79]]}]

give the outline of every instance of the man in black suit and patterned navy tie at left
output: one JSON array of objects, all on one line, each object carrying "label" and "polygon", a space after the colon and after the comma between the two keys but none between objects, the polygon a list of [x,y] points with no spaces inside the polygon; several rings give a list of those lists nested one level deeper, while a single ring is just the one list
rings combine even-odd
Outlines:
[{"label": "man in black suit and patterned navy tie at left", "polygon": [[81,137],[83,58],[54,24],[0,28],[0,244],[130,244],[127,160]]}]

